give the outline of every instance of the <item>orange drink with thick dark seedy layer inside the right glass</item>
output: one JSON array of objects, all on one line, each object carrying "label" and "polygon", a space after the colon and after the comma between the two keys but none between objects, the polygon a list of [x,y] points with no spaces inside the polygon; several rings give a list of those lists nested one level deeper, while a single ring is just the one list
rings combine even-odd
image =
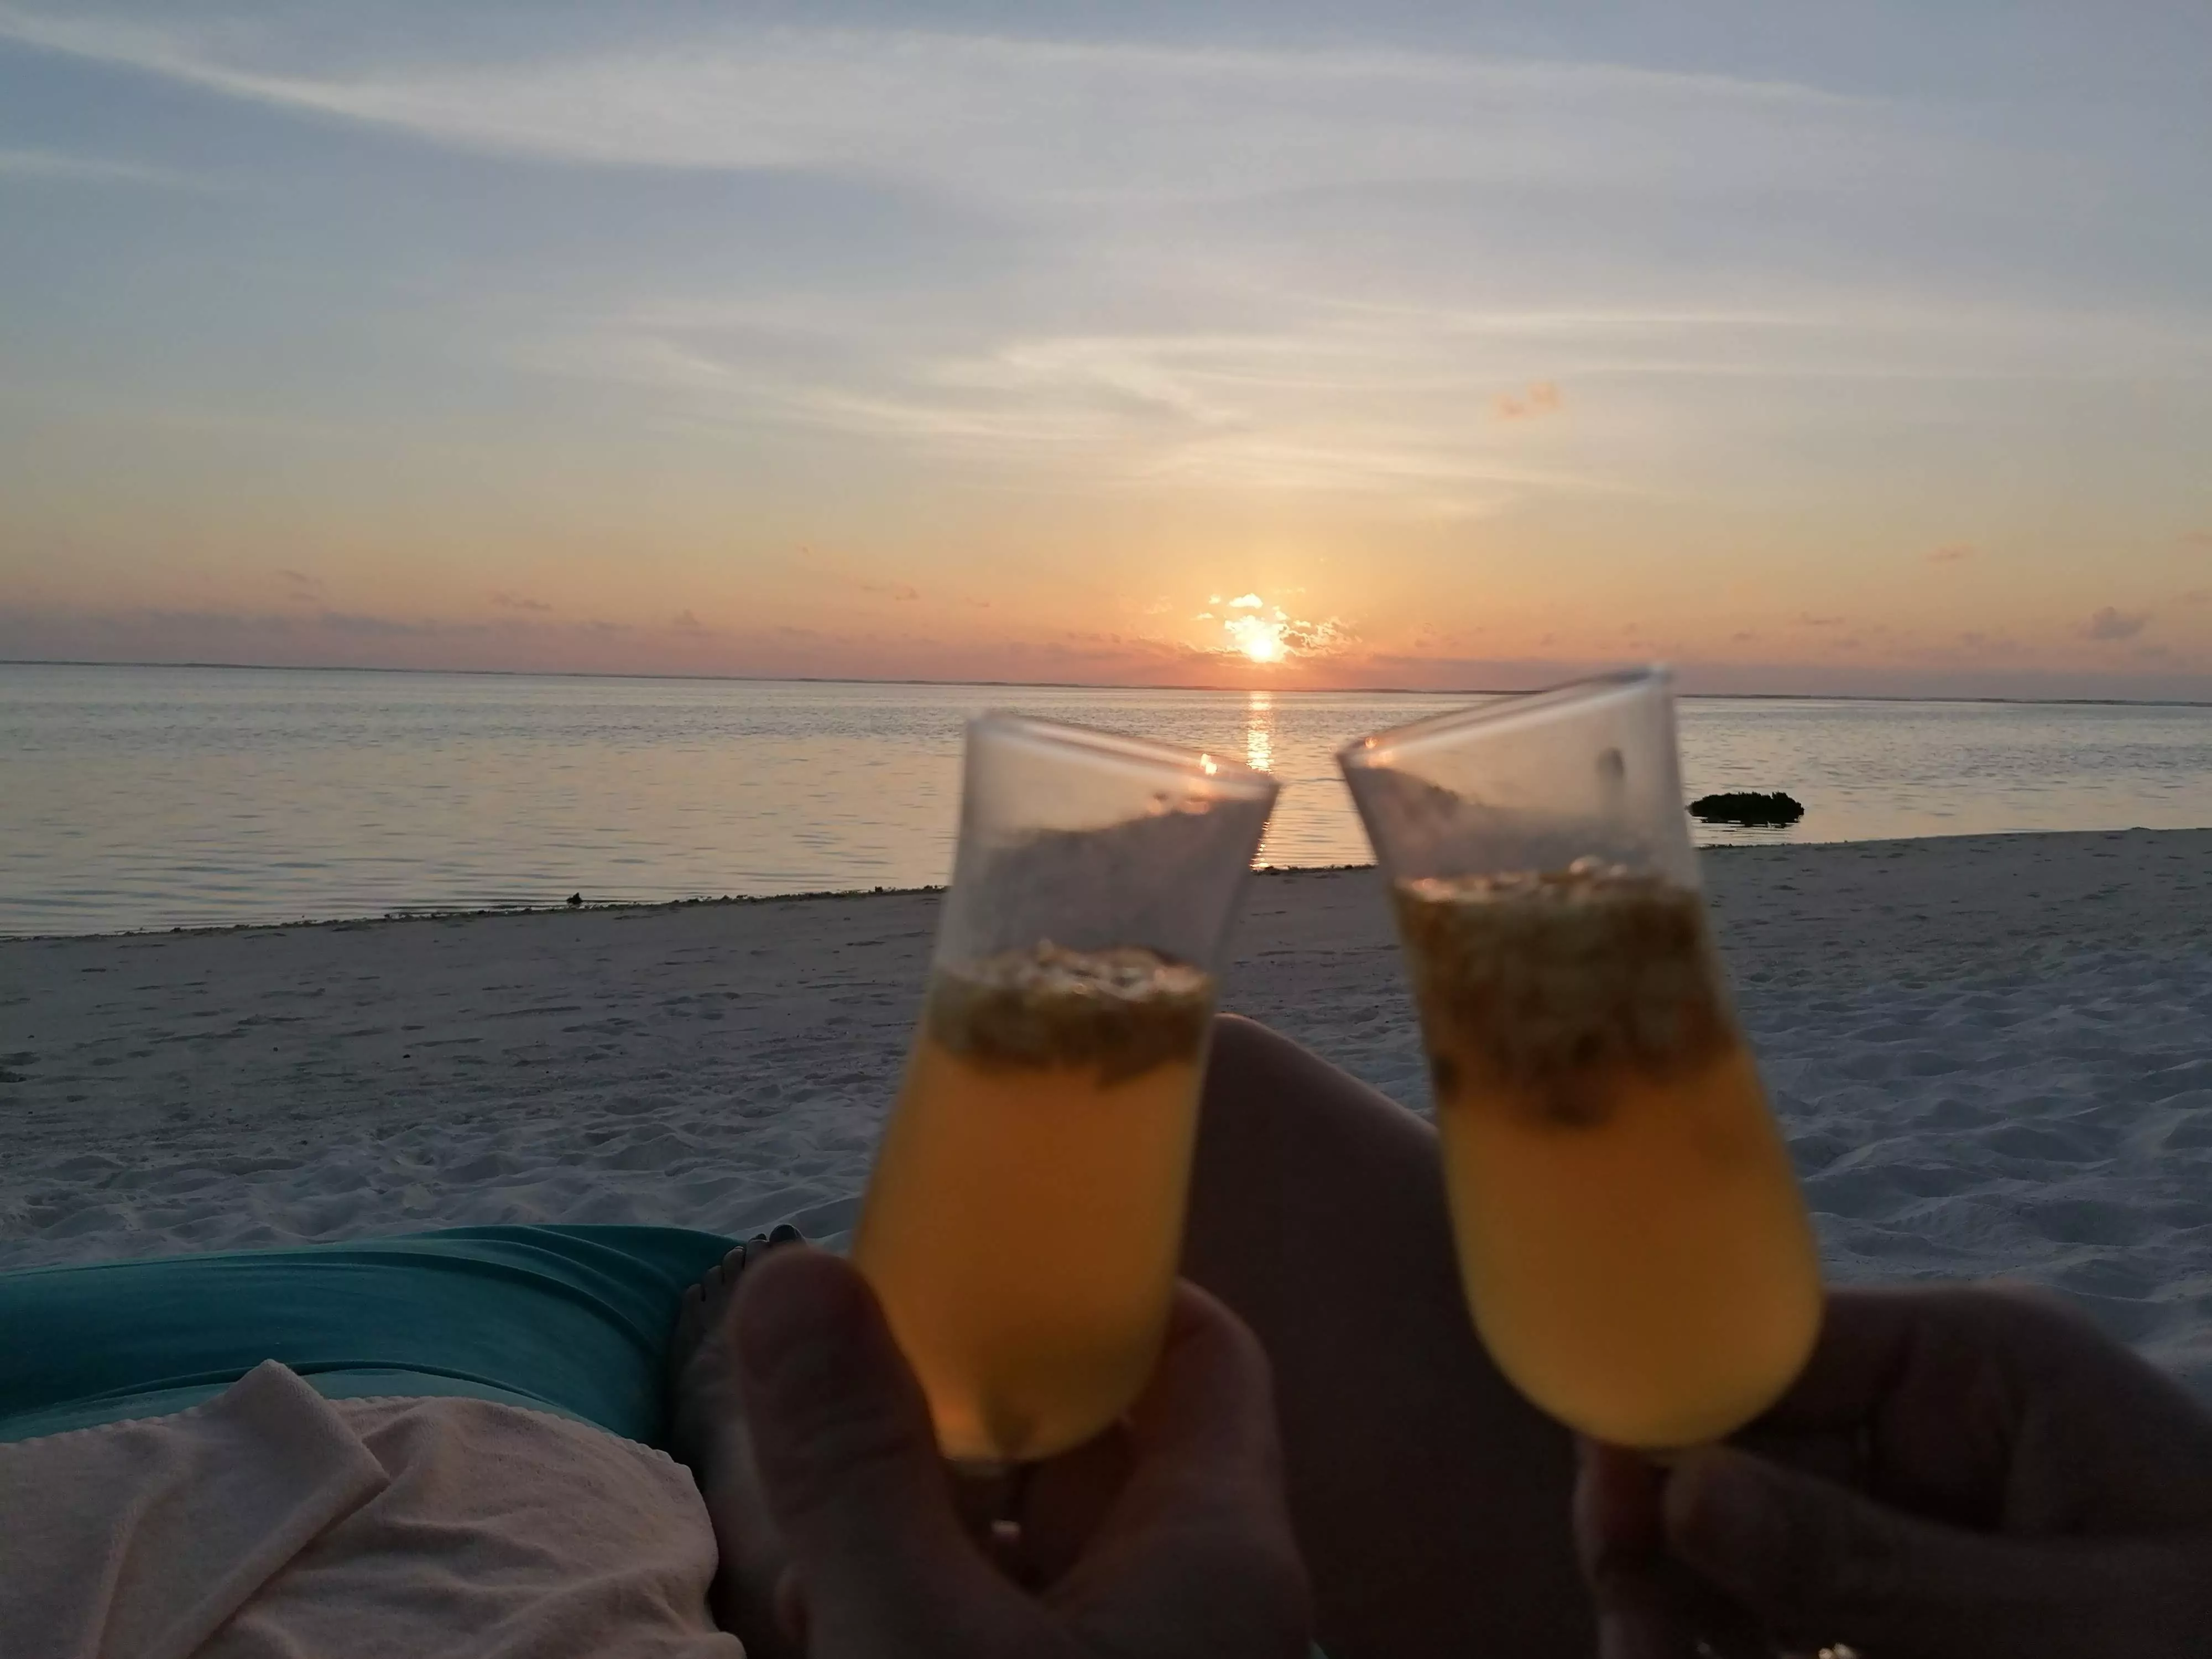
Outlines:
[{"label": "orange drink with thick dark seedy layer inside the right glass", "polygon": [[1754,1418],[1812,1352],[1820,1281],[1699,896],[1584,860],[1394,898],[1500,1369],[1626,1447]]}]

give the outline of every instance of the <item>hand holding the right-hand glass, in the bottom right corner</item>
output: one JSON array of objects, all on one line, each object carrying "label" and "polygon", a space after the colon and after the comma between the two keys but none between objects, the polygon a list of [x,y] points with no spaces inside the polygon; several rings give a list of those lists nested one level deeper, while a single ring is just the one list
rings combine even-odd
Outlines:
[{"label": "hand holding the right-hand glass, in the bottom right corner", "polygon": [[2181,1659],[2212,1630],[2212,1411],[2053,1296],[1838,1290],[1732,1447],[1593,1447],[1606,1652]]}]

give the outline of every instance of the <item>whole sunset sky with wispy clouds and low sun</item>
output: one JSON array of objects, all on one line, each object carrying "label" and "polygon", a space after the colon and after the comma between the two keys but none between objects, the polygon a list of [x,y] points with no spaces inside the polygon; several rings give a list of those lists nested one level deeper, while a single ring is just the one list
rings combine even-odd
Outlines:
[{"label": "whole sunset sky with wispy clouds and low sun", "polygon": [[0,657],[2212,699],[2212,7],[0,0]]}]

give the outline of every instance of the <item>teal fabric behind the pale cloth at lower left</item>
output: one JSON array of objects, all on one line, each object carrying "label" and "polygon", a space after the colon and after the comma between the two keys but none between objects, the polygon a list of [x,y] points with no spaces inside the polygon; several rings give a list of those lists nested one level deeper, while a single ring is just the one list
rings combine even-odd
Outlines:
[{"label": "teal fabric behind the pale cloth at lower left", "polygon": [[661,1444],[686,1228],[453,1228],[0,1274],[0,1440],[181,1411],[261,1360],[327,1398],[467,1394]]}]

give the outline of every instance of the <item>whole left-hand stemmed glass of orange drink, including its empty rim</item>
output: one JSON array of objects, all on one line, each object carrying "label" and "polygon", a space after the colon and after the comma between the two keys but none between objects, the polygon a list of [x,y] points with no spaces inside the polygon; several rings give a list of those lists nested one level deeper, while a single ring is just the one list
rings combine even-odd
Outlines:
[{"label": "whole left-hand stemmed glass of orange drink, including its empty rim", "polygon": [[1119,1418],[1166,1334],[1217,975],[1276,783],[969,726],[960,849],[854,1261],[971,1469]]}]

